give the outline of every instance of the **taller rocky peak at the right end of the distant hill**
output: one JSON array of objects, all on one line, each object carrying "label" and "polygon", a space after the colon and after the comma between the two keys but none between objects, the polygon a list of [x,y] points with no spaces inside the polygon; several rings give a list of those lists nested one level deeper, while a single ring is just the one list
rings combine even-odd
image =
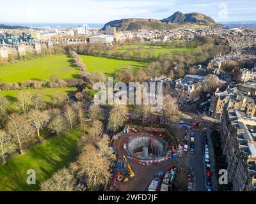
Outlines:
[{"label": "taller rocky peak at the right end of the distant hill", "polygon": [[161,22],[175,24],[216,24],[216,22],[211,17],[207,17],[202,13],[181,13],[180,11],[173,13],[173,15],[168,18],[164,18],[163,20],[161,20]]}]

